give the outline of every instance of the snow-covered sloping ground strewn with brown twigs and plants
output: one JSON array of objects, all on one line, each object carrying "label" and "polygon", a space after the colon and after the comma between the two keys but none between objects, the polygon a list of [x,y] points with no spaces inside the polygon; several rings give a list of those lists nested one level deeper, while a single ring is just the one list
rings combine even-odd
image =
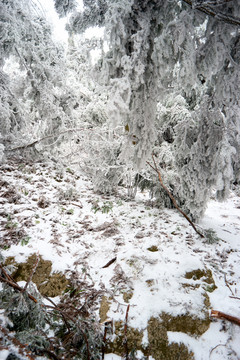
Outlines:
[{"label": "snow-covered sloping ground strewn with brown twigs and plants", "polygon": [[[196,360],[240,359],[240,327],[210,316],[240,318],[240,197],[211,200],[198,226],[215,233],[202,239],[177,210],[124,193],[96,194],[84,175],[52,163],[8,161],[0,166],[1,253],[16,263],[39,254],[52,273],[94,287],[102,323],[127,319],[141,332],[137,359],[161,326],[166,346],[182,343]],[[163,356],[158,346],[154,359]],[[117,345],[112,352],[105,359],[121,359]],[[0,359],[7,354],[0,350]]]}]

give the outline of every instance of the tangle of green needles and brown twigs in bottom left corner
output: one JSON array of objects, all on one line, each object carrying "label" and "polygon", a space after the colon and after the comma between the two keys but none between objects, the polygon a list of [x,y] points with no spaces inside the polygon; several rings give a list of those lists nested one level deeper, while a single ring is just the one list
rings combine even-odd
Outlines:
[{"label": "tangle of green needles and brown twigs in bottom left corner", "polygon": [[[0,260],[3,264],[3,259]],[[0,303],[4,310],[0,317],[0,346],[9,350],[11,356],[61,360],[102,358],[104,329],[95,310],[103,291],[72,278],[71,285],[55,304],[41,296],[30,279],[20,287],[8,267],[2,265],[0,280],[3,283]]]}]

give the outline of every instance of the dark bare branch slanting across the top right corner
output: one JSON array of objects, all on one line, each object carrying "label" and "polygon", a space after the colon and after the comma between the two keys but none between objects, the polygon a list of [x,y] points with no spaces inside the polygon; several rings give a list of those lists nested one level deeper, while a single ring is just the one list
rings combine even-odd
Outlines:
[{"label": "dark bare branch slanting across the top right corner", "polygon": [[226,4],[227,2],[229,2],[229,0],[224,0],[221,2],[221,4],[217,3],[216,4],[212,4],[209,5],[209,2],[201,2],[199,4],[194,3],[194,1],[192,0],[183,0],[185,3],[187,3],[188,5],[190,5],[193,9],[199,10],[201,12],[204,12],[205,14],[214,17],[215,19],[219,20],[219,21],[223,21],[227,24],[231,24],[231,25],[235,25],[235,26],[240,26],[240,19],[238,17],[235,16],[231,16],[231,15],[226,15],[224,13],[222,13],[221,11],[218,11],[216,9],[214,9],[214,5],[223,5]]}]

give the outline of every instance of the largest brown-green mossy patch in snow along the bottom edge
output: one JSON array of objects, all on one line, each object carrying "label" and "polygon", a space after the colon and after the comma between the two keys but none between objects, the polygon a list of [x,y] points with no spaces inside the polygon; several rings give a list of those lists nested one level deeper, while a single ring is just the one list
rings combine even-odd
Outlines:
[{"label": "largest brown-green mossy patch in snow along the bottom edge", "polygon": [[[206,312],[204,319],[199,319],[190,314],[172,316],[161,313],[158,318],[152,317],[148,321],[148,345],[142,344],[143,331],[127,327],[127,347],[129,353],[141,350],[145,356],[152,356],[155,360],[194,360],[194,354],[183,343],[169,343],[168,331],[183,332],[190,336],[200,336],[210,326]],[[123,321],[115,322],[114,340],[108,340],[107,352],[114,352],[124,356],[126,351],[125,329]]]}]

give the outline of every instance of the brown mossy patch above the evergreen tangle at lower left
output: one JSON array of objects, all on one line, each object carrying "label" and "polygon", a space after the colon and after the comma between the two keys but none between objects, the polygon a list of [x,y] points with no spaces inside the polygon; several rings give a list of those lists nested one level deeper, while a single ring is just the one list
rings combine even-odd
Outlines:
[{"label": "brown mossy patch above the evergreen tangle at lower left", "polygon": [[[12,277],[15,281],[28,281],[37,262],[37,255],[32,254],[24,263],[16,263],[13,257],[5,261],[5,265],[14,265],[16,270]],[[61,273],[51,275],[52,263],[49,260],[43,260],[39,256],[38,266],[32,276],[32,281],[36,284],[42,295],[55,297],[61,295],[68,286],[68,280]]]}]

